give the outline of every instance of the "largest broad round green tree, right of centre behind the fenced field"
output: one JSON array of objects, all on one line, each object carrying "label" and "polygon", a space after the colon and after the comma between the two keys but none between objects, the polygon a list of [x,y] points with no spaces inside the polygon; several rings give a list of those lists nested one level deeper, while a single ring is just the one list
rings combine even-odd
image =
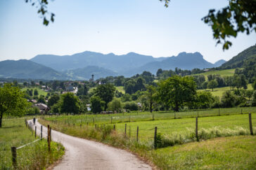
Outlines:
[{"label": "largest broad round green tree, right of centre behind the fenced field", "polygon": [[193,77],[173,76],[158,83],[158,99],[168,107],[171,105],[174,111],[184,103],[194,99],[196,95],[196,82]]}]

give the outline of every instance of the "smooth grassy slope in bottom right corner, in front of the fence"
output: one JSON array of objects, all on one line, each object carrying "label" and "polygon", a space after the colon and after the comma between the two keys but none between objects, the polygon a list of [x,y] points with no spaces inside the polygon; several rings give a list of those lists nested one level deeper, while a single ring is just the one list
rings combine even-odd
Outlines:
[{"label": "smooth grassy slope in bottom right corner, in front of the fence", "polygon": [[256,169],[256,136],[231,136],[153,150],[161,169]]}]

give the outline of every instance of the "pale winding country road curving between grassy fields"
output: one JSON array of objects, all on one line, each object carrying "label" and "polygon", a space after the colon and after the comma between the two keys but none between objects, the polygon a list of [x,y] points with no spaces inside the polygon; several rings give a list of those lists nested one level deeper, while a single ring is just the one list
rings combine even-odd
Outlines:
[{"label": "pale winding country road curving between grassy fields", "polygon": [[[35,125],[39,130],[41,125],[37,120]],[[43,136],[46,132],[47,128],[43,126]],[[103,143],[79,139],[55,130],[51,130],[51,139],[65,147],[63,159],[53,169],[152,169],[132,153]]]}]

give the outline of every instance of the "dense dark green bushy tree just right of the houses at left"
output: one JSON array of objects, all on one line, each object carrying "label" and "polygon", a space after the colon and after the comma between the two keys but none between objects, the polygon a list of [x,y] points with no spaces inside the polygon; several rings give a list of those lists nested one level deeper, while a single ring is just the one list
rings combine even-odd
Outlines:
[{"label": "dense dark green bushy tree just right of the houses at left", "polygon": [[61,113],[78,113],[79,112],[79,99],[72,92],[67,92],[61,95],[60,101]]}]

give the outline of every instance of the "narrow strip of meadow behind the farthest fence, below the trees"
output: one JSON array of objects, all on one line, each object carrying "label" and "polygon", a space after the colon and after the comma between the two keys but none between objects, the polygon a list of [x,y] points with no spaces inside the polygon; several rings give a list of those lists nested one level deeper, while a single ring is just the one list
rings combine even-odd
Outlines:
[{"label": "narrow strip of meadow behind the farthest fence, below the trees", "polygon": [[50,117],[47,120],[54,120],[56,122],[63,122],[66,125],[89,125],[93,124],[112,124],[122,122],[141,122],[150,120],[170,120],[174,118],[195,118],[214,115],[235,115],[240,113],[256,113],[256,107],[244,107],[244,108],[212,108],[212,109],[200,109],[191,111],[180,111],[174,113],[174,111],[155,111],[150,112],[131,112],[131,113],[116,113],[116,114],[98,114],[98,115],[60,115],[58,117]]}]

